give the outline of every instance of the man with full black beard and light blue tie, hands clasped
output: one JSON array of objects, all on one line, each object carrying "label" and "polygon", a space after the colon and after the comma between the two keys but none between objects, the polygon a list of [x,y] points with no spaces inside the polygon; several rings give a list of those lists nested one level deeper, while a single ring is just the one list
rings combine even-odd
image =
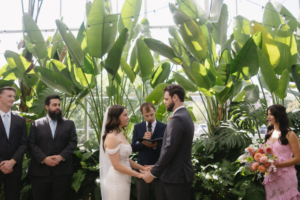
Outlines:
[{"label": "man with full black beard and light blue tie, hands clasped", "polygon": [[45,99],[46,117],[30,126],[28,166],[34,200],[68,199],[72,154],[77,146],[74,122],[62,117],[60,98],[50,95]]}]

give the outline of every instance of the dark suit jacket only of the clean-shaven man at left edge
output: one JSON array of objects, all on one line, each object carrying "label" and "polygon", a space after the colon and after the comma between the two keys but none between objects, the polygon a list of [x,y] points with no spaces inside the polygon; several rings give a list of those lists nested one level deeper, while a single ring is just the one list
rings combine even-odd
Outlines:
[{"label": "dark suit jacket only of the clean-shaven man at left edge", "polygon": [[[22,160],[27,150],[27,128],[25,118],[11,112],[9,138],[7,138],[4,123],[0,117],[0,163],[14,159],[16,164],[7,176],[22,175]],[[0,176],[4,175],[0,171]]]}]

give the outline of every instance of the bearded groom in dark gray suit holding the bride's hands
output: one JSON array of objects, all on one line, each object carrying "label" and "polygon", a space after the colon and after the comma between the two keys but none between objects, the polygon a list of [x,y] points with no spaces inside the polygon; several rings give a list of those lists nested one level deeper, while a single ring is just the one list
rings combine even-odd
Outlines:
[{"label": "bearded groom in dark gray suit holding the bride's hands", "polygon": [[185,91],[181,85],[168,85],[164,88],[164,104],[172,117],[167,125],[161,154],[150,172],[143,179],[150,183],[160,178],[165,183],[167,199],[190,199],[190,190],[194,180],[191,162],[191,149],[194,124],[184,107]]}]

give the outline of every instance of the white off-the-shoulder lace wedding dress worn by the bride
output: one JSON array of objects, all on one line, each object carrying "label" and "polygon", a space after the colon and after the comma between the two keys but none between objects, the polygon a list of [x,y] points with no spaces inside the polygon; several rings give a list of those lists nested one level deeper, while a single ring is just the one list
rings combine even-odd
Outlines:
[{"label": "white off-the-shoulder lace wedding dress worn by the bride", "polygon": [[108,154],[115,154],[119,150],[120,163],[131,169],[129,156],[132,152],[130,145],[120,143],[115,149],[105,149],[108,161],[108,173],[105,182],[105,189],[108,200],[129,200],[131,176],[122,174],[113,168]]}]

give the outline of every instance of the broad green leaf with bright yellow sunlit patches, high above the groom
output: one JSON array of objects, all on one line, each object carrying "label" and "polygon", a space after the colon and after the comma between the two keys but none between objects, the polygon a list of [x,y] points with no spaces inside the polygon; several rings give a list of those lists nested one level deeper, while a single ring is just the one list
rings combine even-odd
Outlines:
[{"label": "broad green leaf with bright yellow sunlit patches, high above the groom", "polygon": [[181,25],[179,27],[179,33],[182,36],[185,47],[198,61],[201,61],[208,49],[206,39],[201,29],[193,20],[190,20],[186,14],[180,11],[174,11],[173,19],[176,24]]}]

